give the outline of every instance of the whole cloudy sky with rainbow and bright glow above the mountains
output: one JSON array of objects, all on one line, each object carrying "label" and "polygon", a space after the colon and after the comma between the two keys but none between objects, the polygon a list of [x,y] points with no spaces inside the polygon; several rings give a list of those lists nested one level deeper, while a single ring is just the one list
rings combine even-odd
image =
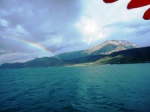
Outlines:
[{"label": "whole cloudy sky with rainbow and bright glow above the mountains", "polygon": [[0,0],[0,64],[83,50],[106,40],[150,46],[149,8],[130,0]]}]

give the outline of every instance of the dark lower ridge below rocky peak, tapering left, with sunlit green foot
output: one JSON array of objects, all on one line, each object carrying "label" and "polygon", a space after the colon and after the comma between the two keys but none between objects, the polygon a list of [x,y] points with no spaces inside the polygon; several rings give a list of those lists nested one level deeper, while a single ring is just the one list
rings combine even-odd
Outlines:
[{"label": "dark lower ridge below rocky peak, tapering left, with sunlit green foot", "polygon": [[91,55],[83,58],[68,60],[68,64],[127,64],[150,62],[150,47],[134,48],[114,52],[108,55]]}]

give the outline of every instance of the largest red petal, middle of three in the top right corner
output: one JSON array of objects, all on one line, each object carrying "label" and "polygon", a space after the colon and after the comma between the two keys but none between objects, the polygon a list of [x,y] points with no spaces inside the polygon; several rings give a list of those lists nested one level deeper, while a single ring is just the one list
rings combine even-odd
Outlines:
[{"label": "largest red petal, middle of three in the top right corner", "polygon": [[127,6],[128,9],[143,7],[150,4],[150,0],[131,0]]}]

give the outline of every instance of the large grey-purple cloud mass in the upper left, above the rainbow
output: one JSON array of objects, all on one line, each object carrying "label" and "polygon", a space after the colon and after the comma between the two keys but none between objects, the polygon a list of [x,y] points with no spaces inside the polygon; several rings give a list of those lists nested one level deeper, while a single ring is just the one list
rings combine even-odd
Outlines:
[{"label": "large grey-purple cloud mass in the upper left, above the rainbow", "polygon": [[80,0],[4,0],[0,19],[7,25],[0,25],[0,29],[8,38],[17,35],[33,42],[59,35],[63,41],[77,39],[73,24],[80,17],[81,5]]}]

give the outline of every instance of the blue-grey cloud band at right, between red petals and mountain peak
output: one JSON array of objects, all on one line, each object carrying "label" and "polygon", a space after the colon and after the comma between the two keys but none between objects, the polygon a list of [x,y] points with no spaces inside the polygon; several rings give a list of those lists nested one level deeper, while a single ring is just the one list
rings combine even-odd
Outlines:
[{"label": "blue-grey cloud band at right, between red petals and mountain peak", "polygon": [[123,39],[137,44],[138,46],[149,46],[150,44],[150,21],[142,19],[127,22],[116,22],[104,26],[109,31],[108,38]]}]

